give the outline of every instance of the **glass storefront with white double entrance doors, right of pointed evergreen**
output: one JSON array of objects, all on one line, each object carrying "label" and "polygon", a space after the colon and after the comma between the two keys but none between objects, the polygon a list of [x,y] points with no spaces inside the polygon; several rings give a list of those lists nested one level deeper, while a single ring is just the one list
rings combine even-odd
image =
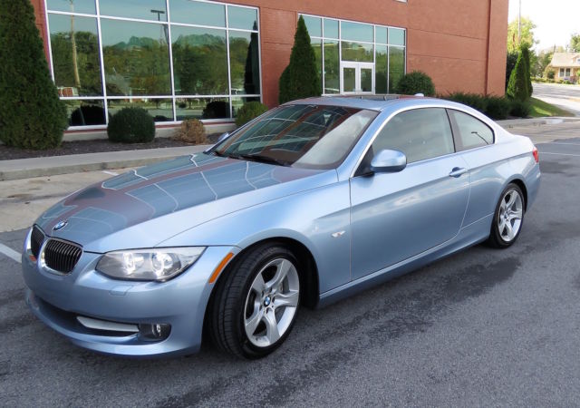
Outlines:
[{"label": "glass storefront with white double entrance doors, right of pointed evergreen", "polygon": [[406,69],[404,29],[302,16],[321,73],[323,94],[394,92]]}]

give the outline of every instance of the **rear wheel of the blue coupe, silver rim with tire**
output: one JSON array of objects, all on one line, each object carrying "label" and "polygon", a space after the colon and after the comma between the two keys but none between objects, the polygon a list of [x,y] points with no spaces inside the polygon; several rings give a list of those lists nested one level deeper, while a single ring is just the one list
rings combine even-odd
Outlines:
[{"label": "rear wheel of the blue coupe, silver rim with tire", "polygon": [[488,244],[507,248],[516,242],[524,223],[524,194],[517,184],[510,183],[501,193],[489,233]]}]

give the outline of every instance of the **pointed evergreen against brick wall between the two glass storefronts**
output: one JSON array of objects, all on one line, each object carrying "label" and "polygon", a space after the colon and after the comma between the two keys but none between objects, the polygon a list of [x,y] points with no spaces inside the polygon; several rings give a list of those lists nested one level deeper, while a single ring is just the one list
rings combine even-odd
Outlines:
[{"label": "pointed evergreen against brick wall between the two glass storefronts", "polygon": [[290,63],[280,76],[279,90],[280,103],[320,96],[322,91],[314,49],[302,16],[298,19]]}]

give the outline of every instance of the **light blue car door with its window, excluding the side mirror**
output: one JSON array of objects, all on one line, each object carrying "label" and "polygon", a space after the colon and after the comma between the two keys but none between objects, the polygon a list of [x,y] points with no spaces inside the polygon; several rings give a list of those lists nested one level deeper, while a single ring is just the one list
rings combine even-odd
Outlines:
[{"label": "light blue car door with its window, excluding the side mirror", "polygon": [[[407,167],[369,175],[365,166],[383,149],[402,151]],[[353,279],[455,237],[469,200],[469,171],[455,154],[445,109],[420,108],[392,117],[350,183]]]}]

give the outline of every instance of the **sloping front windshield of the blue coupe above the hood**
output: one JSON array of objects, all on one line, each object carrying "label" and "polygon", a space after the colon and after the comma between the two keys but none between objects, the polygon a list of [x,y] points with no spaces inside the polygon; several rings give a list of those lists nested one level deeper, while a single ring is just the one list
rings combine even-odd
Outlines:
[{"label": "sloping front windshield of the blue coupe above the hood", "polygon": [[232,134],[213,152],[282,166],[333,169],[377,114],[342,106],[285,105]]}]

